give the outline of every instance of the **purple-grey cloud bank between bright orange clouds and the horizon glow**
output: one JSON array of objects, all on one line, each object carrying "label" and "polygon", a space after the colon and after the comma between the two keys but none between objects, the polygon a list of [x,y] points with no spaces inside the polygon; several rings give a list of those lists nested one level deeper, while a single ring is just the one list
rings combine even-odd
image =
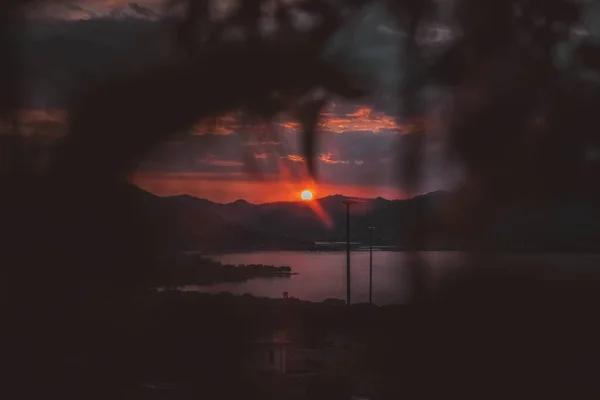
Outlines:
[{"label": "purple-grey cloud bank between bright orange clouds and the horizon glow", "polygon": [[[398,135],[357,131],[323,134],[317,167],[325,184],[391,185],[390,160]],[[239,135],[192,135],[172,141],[153,152],[140,172],[155,173],[245,173],[253,169],[263,177],[284,180],[308,178],[306,158],[298,135],[286,132],[282,142],[253,141],[247,145]],[[286,145],[284,145],[285,143]],[[248,176],[248,179],[254,179]]]}]

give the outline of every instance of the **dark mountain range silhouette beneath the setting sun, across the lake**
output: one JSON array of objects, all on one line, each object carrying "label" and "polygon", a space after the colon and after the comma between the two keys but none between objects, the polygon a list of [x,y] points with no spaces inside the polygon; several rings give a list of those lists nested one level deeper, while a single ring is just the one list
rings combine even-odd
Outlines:
[{"label": "dark mountain range silhouette beneath the setting sun, across the lake", "polygon": [[[189,195],[159,197],[135,186],[125,189],[132,211],[147,224],[158,247],[178,250],[234,251],[309,249],[315,241],[344,241],[347,197],[332,195],[308,202],[215,203]],[[361,199],[351,207],[352,241],[375,245],[408,242],[415,223],[428,232],[428,249],[462,249],[472,244],[442,225],[449,193],[433,192],[406,200]],[[320,208],[330,224],[319,216]],[[420,220],[417,220],[420,219]],[[478,235],[483,248],[519,251],[592,251],[600,243],[600,216],[585,204],[569,203],[534,210],[507,210],[490,219]]]}]

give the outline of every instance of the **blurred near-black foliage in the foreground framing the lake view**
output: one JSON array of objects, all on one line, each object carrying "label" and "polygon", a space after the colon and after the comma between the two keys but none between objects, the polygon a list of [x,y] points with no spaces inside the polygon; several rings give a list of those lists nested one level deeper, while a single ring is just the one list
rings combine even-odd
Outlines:
[{"label": "blurred near-black foliage in the foreground framing the lake view", "polygon": [[[32,3],[0,4],[3,398],[122,398],[147,380],[192,382],[191,395],[200,398],[261,398],[239,360],[246,340],[276,325],[316,338],[340,330],[355,343],[356,369],[340,368],[334,384],[312,392],[315,399],[347,398],[343,382],[357,376],[372,378],[380,391],[373,398],[598,397],[594,274],[549,285],[498,272],[479,240],[510,210],[573,199],[598,205],[600,164],[586,154],[600,146],[600,52],[592,40],[571,38],[590,2],[457,0],[461,35],[439,57],[417,42],[435,5],[386,2],[404,33],[400,114],[414,122],[397,150],[399,185],[419,193],[427,111],[420,95],[427,86],[443,89],[453,101],[447,138],[465,177],[441,226],[469,243],[478,268],[432,298],[416,250],[435,230],[417,207],[407,227],[415,250],[409,302],[417,306],[379,309],[149,293],[142,288],[165,248],[132,212],[123,187],[157,144],[230,110],[250,121],[292,114],[314,172],[315,127],[327,96],[370,89],[319,55],[342,11],[368,1],[303,2],[320,21],[309,33],[295,31],[290,6],[277,2],[281,31],[268,40],[259,35],[261,1],[241,1],[218,23],[207,1],[169,2],[169,10],[187,6],[182,19],[165,19],[177,33],[172,59],[82,88],[69,103],[68,135],[44,171],[16,123],[28,71],[15,33],[24,23],[18,12]],[[245,28],[243,43],[222,40],[231,24]],[[570,51],[557,63],[564,42]]]}]

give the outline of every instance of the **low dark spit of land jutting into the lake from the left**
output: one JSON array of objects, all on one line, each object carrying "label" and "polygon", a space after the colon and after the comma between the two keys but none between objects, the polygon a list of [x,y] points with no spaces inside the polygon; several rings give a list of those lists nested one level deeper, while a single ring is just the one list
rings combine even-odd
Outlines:
[{"label": "low dark spit of land jutting into the lake from the left", "polygon": [[222,282],[242,282],[251,278],[290,277],[295,275],[287,265],[229,265],[202,255],[179,255],[161,265],[152,283],[162,287],[212,285]]}]

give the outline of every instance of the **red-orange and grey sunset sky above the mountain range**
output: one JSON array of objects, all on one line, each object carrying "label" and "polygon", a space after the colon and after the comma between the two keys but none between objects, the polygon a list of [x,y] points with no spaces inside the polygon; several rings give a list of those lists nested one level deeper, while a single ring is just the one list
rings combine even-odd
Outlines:
[{"label": "red-orange and grey sunset sky above the mountain range", "polygon": [[[160,62],[168,54],[169,35],[155,18],[161,4],[85,0],[53,2],[30,11],[24,52],[31,77],[25,133],[60,136],[69,102],[86,79],[118,73],[123,65]],[[304,189],[316,197],[407,197],[396,178],[395,156],[410,125],[398,117],[398,103],[390,95],[390,88],[403,78],[400,34],[378,6],[357,24],[360,34],[349,40],[348,32],[340,31],[325,56],[342,60],[375,94],[354,103],[329,102],[318,130],[316,181],[301,155],[297,121],[282,115],[248,126],[231,113],[214,124],[198,121],[185,135],[154,149],[134,171],[132,182],[161,196],[191,194],[217,202],[298,200]],[[449,35],[445,29],[438,33]],[[460,176],[445,157],[432,115],[421,192],[449,189]]]}]

